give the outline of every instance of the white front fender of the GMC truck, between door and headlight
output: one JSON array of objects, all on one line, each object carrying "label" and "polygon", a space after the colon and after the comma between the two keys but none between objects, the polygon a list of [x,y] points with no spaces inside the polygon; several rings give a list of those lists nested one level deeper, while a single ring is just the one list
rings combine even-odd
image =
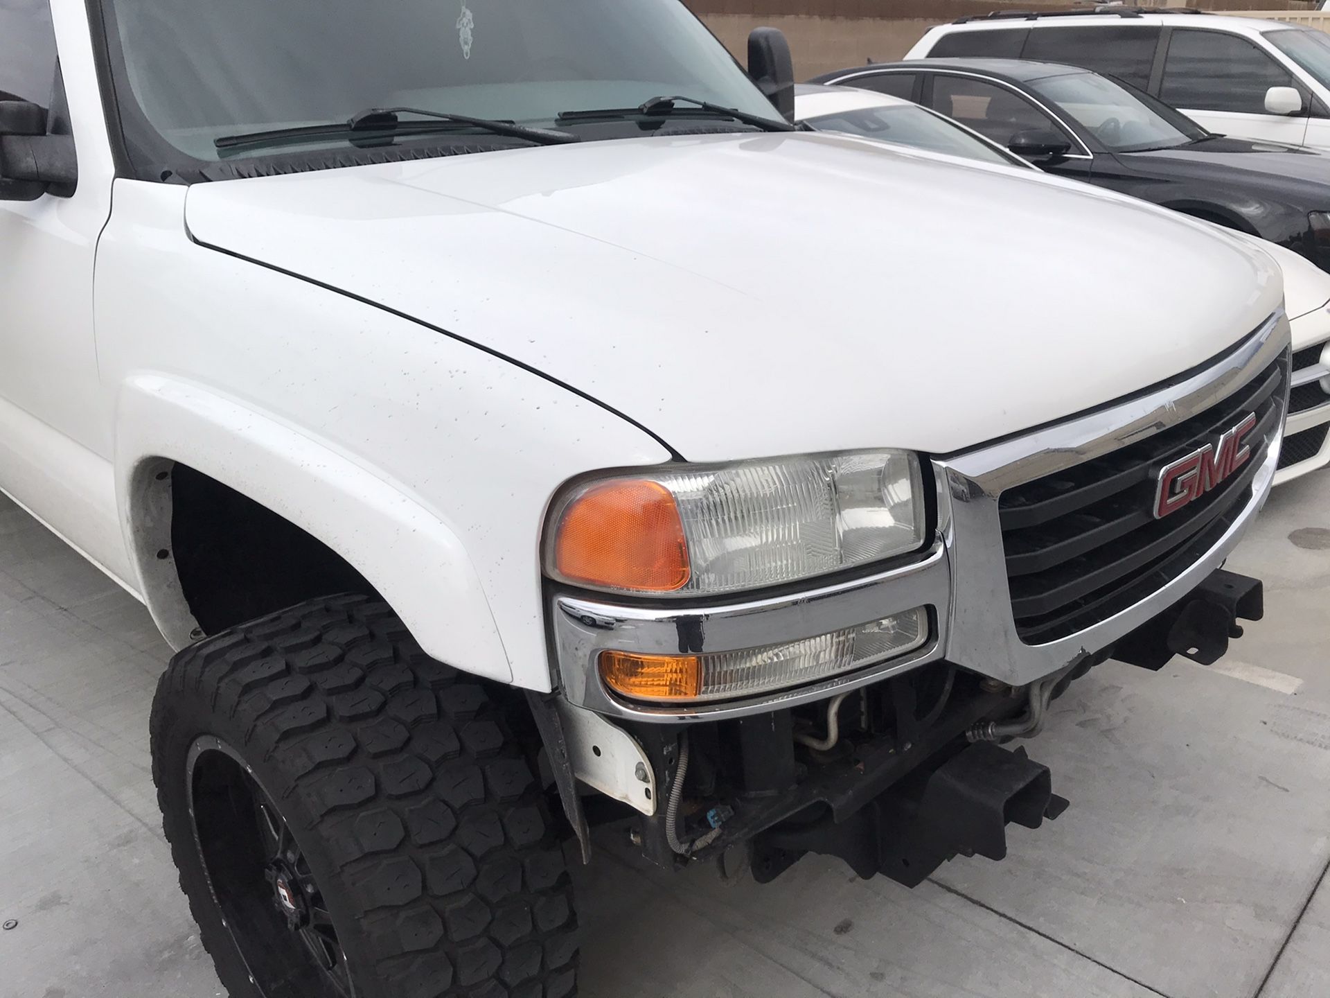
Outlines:
[{"label": "white front fender of the GMC truck, between door and headlight", "polygon": [[[435,657],[549,689],[537,540],[551,494],[669,452],[501,358],[197,246],[184,202],[184,188],[117,181],[98,258],[126,530],[136,470],[184,462],[346,558]],[[145,540],[132,538],[140,578],[170,631],[178,596],[153,584]]]}]

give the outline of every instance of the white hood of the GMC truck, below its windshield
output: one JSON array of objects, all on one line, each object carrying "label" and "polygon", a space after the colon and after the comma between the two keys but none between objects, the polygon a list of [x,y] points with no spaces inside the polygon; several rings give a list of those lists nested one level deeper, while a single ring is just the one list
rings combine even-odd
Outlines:
[{"label": "white hood of the GMC truck, below its windshield", "polygon": [[1202,363],[1282,294],[1260,250],[1145,204],[826,134],[200,184],[185,212],[205,246],[505,355],[690,460],[963,450]]}]

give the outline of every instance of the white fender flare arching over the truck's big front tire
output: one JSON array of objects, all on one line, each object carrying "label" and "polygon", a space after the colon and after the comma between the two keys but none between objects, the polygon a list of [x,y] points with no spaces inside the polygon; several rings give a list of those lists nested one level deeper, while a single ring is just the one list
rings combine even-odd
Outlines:
[{"label": "white fender flare arching over the truck's big front tire", "polygon": [[196,636],[172,559],[169,490],[181,462],[301,527],[383,595],[424,651],[501,683],[512,669],[480,578],[456,532],[360,460],[246,403],[164,374],[120,391],[116,496],[140,591],[176,648]]}]

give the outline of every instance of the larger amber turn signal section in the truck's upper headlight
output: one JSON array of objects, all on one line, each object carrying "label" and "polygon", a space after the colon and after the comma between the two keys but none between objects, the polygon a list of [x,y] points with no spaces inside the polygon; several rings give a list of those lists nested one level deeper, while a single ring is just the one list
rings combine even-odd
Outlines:
[{"label": "larger amber turn signal section in the truck's upper headlight", "polygon": [[613,479],[592,486],[563,512],[555,568],[573,583],[674,592],[689,579],[684,522],[657,482]]}]

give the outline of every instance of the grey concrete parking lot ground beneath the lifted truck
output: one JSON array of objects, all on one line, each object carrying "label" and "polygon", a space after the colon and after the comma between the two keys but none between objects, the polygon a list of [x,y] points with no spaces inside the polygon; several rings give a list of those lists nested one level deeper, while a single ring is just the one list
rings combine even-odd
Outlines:
[{"label": "grey concrete parking lot ground beneath the lifted truck", "polygon": [[[669,877],[604,834],[588,998],[1330,995],[1330,475],[1234,567],[1269,613],[1220,668],[1109,663],[1029,748],[1072,808],[923,888],[806,860]],[[148,760],[148,615],[0,500],[0,997],[211,998]]]}]

